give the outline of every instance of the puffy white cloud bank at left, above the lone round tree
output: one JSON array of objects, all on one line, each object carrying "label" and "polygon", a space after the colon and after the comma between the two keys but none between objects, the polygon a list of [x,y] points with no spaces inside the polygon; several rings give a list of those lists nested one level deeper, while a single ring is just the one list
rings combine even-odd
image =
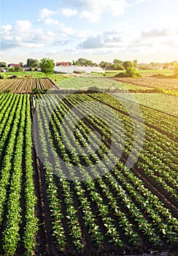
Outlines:
[{"label": "puffy white cloud bank at left, above the lone round tree", "polygon": [[74,30],[58,20],[47,18],[47,25],[57,25],[54,29],[34,29],[28,20],[17,20],[13,25],[1,26],[1,49],[42,48],[63,45],[69,42]]}]

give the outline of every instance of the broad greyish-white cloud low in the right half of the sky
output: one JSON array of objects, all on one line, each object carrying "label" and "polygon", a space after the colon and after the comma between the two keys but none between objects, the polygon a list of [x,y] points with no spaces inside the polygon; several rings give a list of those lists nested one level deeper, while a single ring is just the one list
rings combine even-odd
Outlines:
[{"label": "broad greyish-white cloud low in the right half of the sky", "polygon": [[[176,30],[150,29],[147,34],[136,31],[128,23],[115,24],[112,29],[100,34],[88,36],[77,45],[83,54],[163,54],[177,49],[178,34]],[[155,37],[156,35],[156,37]]]}]

